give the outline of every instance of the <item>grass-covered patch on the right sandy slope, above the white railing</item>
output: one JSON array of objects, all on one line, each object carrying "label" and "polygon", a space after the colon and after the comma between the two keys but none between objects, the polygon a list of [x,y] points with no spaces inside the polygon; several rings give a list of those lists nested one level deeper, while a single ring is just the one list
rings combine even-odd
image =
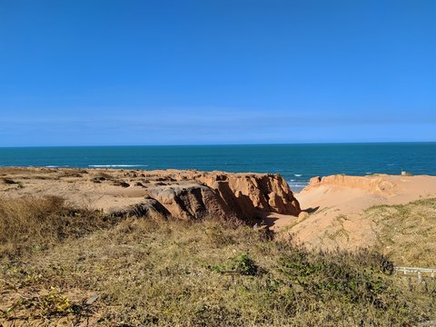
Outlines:
[{"label": "grass-covered patch on the right sandy slope, above the white railing", "polygon": [[366,210],[377,233],[377,248],[399,266],[436,268],[436,199]]}]

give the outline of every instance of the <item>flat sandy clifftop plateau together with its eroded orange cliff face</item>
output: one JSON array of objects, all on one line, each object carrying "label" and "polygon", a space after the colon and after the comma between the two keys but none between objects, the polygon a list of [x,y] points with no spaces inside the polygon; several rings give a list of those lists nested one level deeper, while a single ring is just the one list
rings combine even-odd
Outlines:
[{"label": "flat sandy clifftop plateau together with its eroded orange cliff face", "polygon": [[58,195],[117,216],[157,213],[184,220],[250,220],[263,213],[301,213],[300,204],[278,174],[7,168],[4,175],[23,185],[11,188],[11,196]]}]

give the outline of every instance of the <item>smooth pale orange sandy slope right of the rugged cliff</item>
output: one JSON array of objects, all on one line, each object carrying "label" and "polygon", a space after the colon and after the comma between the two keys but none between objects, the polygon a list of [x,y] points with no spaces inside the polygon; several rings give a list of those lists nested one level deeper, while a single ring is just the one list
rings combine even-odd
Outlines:
[{"label": "smooth pale orange sandy slope right of the rugged cliff", "polygon": [[[436,196],[436,176],[343,176],[313,178],[295,195],[302,213],[289,226],[302,242],[314,247],[355,248],[374,243],[374,225],[362,212],[377,204],[409,203]],[[289,232],[287,232],[289,233]]]}]

